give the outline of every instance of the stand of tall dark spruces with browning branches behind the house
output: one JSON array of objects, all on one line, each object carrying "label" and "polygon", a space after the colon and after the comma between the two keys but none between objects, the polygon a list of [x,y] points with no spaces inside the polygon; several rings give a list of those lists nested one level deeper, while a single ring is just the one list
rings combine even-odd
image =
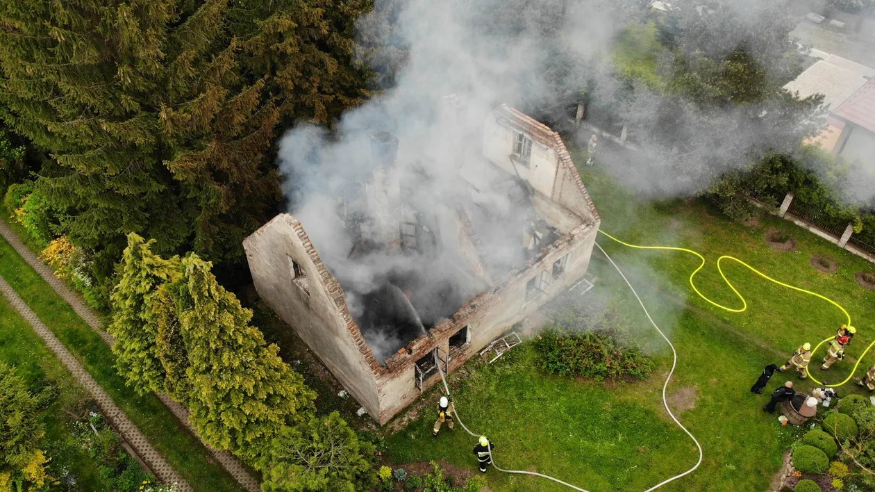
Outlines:
[{"label": "stand of tall dark spruces with browning branches behind the house", "polygon": [[127,232],[162,254],[242,260],[280,200],[283,118],[360,101],[364,0],[0,0],[0,102],[48,151],[40,186],[111,274]]}]

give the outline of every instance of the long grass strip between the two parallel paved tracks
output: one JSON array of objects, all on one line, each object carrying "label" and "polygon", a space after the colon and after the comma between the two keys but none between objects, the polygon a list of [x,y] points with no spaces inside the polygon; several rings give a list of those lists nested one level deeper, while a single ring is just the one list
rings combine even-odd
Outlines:
[{"label": "long grass strip between the two parallel paved tracks", "polygon": [[158,397],[137,395],[113,366],[115,357],[91,327],[0,239],[0,275],[25,299],[66,348],[79,359],[116,404],[150,439],[158,452],[196,490],[237,490],[239,486],[200,440],[161,403]]}]

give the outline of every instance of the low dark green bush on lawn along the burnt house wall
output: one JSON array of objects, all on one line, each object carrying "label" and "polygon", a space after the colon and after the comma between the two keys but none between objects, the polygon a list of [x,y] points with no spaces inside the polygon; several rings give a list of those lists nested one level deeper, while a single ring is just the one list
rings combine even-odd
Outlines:
[{"label": "low dark green bush on lawn along the burnt house wall", "polygon": [[575,332],[548,327],[535,341],[541,366],[560,376],[606,378],[647,377],[655,367],[640,348],[623,346],[606,331]]}]

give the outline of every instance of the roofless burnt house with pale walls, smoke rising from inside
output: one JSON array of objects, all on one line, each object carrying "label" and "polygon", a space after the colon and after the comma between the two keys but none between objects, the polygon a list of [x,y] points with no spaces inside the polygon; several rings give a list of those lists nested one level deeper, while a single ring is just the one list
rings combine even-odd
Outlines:
[{"label": "roofless burnt house with pale walls, smoke rising from inside", "polygon": [[[381,425],[440,381],[436,364],[458,369],[583,278],[598,232],[547,126],[502,105],[476,135],[452,137],[480,151],[450,159],[451,186],[436,187],[432,163],[399,162],[398,139],[371,134],[369,179],[325,210],[344,233],[331,248],[291,214],[244,242],[261,298]],[[378,263],[390,267],[367,270]]]}]

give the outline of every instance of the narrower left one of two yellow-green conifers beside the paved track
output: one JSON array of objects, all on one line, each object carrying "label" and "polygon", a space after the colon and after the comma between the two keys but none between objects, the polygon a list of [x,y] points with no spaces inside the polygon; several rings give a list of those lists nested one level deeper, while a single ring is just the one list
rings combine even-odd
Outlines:
[{"label": "narrower left one of two yellow-green conifers beside the paved track", "polygon": [[165,391],[165,365],[158,355],[158,318],[164,310],[154,308],[158,287],[181,277],[179,257],[165,260],[151,251],[155,243],[128,235],[122,274],[110,299],[113,318],[108,331],[116,337],[113,353],[116,369],[140,393]]}]

